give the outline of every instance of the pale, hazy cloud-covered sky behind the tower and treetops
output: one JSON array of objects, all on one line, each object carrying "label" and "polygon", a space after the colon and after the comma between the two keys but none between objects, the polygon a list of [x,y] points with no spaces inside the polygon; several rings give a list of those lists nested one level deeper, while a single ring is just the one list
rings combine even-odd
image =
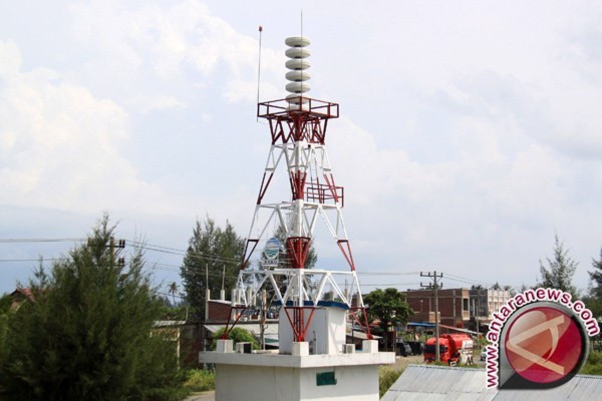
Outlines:
[{"label": "pale, hazy cloud-covered sky behind the tower and treetops", "polygon": [[[360,271],[532,284],[558,233],[586,288],[602,245],[594,2],[9,2],[0,238],[83,237],[104,210],[120,237],[178,249],[205,215],[246,236],[268,150],[257,27],[261,99],[278,99],[301,8],[311,96],[341,105],[327,145]],[[319,263],[344,263],[322,243]],[[0,259],[72,245],[0,243]],[[33,265],[0,262],[0,292]]]}]

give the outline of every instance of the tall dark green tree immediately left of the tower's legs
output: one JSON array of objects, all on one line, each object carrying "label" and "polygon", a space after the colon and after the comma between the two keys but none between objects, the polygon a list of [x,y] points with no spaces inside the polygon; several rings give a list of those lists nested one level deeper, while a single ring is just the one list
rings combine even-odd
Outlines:
[{"label": "tall dark green tree immediately left of the tower's legs", "polygon": [[[209,217],[204,222],[196,221],[180,268],[185,300],[190,305],[189,317],[196,320],[205,317],[205,290],[209,288],[215,293],[222,288],[224,267],[224,286],[234,287],[243,250],[244,239],[238,236],[229,222],[222,229]],[[209,271],[209,283],[205,280],[205,268]]]}]

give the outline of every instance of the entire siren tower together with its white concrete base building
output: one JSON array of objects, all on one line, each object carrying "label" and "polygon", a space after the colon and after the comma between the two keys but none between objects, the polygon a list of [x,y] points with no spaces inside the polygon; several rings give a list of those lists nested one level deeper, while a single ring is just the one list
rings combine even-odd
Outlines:
[{"label": "entire siren tower together with its white concrete base building", "polygon": [[[216,399],[378,400],[378,366],[394,363],[395,357],[378,352],[370,333],[343,219],[344,188],[335,183],[326,152],[328,122],[338,118],[339,106],[307,96],[309,39],[293,36],[285,44],[288,94],[285,99],[257,105],[258,118],[267,120],[271,143],[232,291],[229,320],[217,352],[202,352],[199,360],[216,364]],[[270,183],[281,170],[287,176],[290,196],[278,203],[267,202]],[[322,223],[340,249],[343,269],[306,268],[315,228]],[[261,249],[260,243],[267,242],[274,254],[275,231],[281,234],[284,257],[278,263],[261,263],[259,258],[254,268],[251,257]],[[228,334],[247,310],[256,310],[262,290],[279,307],[278,354],[249,354],[244,346],[233,352]],[[346,343],[348,317],[352,325],[364,330],[361,352],[355,352],[355,344]],[[234,382],[244,382],[258,393],[247,388],[239,394]],[[307,383],[311,386],[302,385]]]}]

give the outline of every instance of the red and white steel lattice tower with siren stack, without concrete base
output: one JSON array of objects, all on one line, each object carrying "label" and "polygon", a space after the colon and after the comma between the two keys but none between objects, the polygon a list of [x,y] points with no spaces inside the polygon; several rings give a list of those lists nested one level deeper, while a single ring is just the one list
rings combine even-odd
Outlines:
[{"label": "red and white steel lattice tower with siren stack, without concrete base", "polygon": [[[222,338],[237,323],[244,310],[255,308],[261,290],[274,294],[282,305],[293,331],[293,341],[305,341],[314,311],[321,302],[337,301],[349,308],[349,316],[371,339],[365,305],[359,286],[349,237],[343,220],[344,190],[335,183],[326,152],[328,122],[338,118],[337,103],[306,96],[309,91],[309,39],[303,36],[285,40],[289,60],[285,99],[261,102],[257,116],[270,127],[270,150],[259,186],[253,221],[233,291],[230,320]],[[278,170],[286,170],[290,182],[290,200],[264,203],[264,196]],[[266,215],[266,218],[261,216]],[[321,220],[340,248],[347,265],[344,269],[306,269],[306,258]],[[284,234],[286,265],[260,264],[249,267],[258,244],[272,236],[270,228]],[[343,281],[350,288],[343,286]],[[326,299],[329,297],[330,299]],[[281,312],[281,313],[282,313]]]}]

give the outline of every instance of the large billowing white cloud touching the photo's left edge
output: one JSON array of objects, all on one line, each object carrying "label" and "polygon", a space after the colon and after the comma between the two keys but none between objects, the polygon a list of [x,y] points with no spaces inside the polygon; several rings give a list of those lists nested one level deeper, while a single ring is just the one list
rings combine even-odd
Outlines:
[{"label": "large billowing white cloud touching the photo's left edge", "polygon": [[156,185],[120,155],[131,127],[122,108],[48,69],[20,69],[16,45],[0,40],[0,203],[98,212],[168,212]]}]

